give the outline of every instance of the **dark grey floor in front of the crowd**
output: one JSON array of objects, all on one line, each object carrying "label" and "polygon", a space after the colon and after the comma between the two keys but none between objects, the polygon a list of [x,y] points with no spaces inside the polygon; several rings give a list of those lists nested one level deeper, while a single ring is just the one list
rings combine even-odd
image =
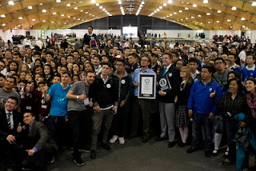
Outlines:
[{"label": "dark grey floor in front of the crowd", "polygon": [[[186,153],[186,149],[177,145],[174,148],[167,148],[167,141],[155,142],[151,138],[146,144],[142,144],[139,137],[126,141],[125,145],[119,145],[118,141],[112,147],[111,151],[102,148],[97,150],[97,158],[90,159],[90,153],[82,153],[82,160],[85,165],[79,167],[74,164],[72,159],[72,150],[65,149],[58,160],[50,165],[53,171],[58,170],[139,170],[139,171],[216,171],[216,170],[236,170],[235,165],[221,165],[222,154],[217,157],[204,157],[204,150],[195,153]],[[222,149],[224,151],[225,149]]]}]

